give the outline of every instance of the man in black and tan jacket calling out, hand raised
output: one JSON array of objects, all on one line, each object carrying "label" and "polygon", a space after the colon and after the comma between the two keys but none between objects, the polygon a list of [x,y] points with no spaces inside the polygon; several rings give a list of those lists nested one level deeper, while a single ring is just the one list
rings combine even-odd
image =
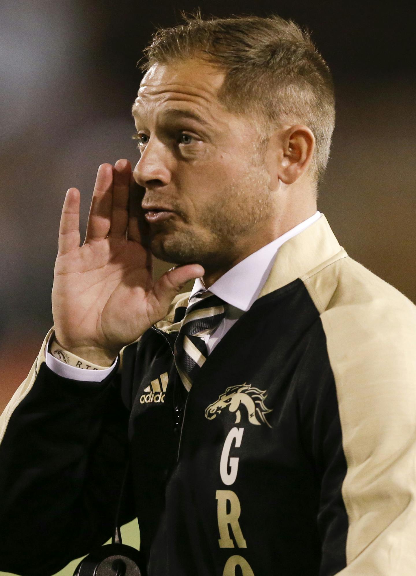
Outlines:
[{"label": "man in black and tan jacket calling out, hand raised", "polygon": [[128,461],[150,576],[416,573],[416,312],[316,212],[326,64],[279,17],[146,56],[133,179],[100,166],[81,247],[67,192],[55,329],[2,416],[0,568],[108,539]]}]

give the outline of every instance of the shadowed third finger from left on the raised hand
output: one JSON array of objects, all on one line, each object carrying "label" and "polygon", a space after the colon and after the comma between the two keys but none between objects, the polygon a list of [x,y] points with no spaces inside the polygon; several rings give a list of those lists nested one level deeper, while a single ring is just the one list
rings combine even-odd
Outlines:
[{"label": "shadowed third finger from left on the raised hand", "polygon": [[114,165],[113,200],[109,235],[125,238],[128,223],[128,188],[130,186],[131,164],[128,160],[118,160]]}]

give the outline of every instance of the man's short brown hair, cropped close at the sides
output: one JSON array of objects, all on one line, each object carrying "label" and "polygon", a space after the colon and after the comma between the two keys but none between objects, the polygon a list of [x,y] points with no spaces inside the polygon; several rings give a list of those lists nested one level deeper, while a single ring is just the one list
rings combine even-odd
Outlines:
[{"label": "man's short brown hair, cropped close at the sides", "polygon": [[254,116],[262,134],[283,123],[303,123],[315,135],[311,177],[326,168],[335,122],[330,70],[308,32],[273,15],[201,17],[160,28],[144,50],[143,71],[155,63],[199,57],[225,70],[218,97],[228,111]]}]

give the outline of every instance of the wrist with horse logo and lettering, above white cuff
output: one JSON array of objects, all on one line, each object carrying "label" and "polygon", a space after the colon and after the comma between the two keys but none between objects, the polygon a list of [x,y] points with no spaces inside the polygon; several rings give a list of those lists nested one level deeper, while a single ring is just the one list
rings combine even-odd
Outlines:
[{"label": "wrist with horse logo and lettering, above white cuff", "polygon": [[62,344],[60,340],[52,338],[50,353],[71,366],[77,366],[87,370],[99,370],[111,366],[118,353],[96,348],[94,346],[71,346]]}]

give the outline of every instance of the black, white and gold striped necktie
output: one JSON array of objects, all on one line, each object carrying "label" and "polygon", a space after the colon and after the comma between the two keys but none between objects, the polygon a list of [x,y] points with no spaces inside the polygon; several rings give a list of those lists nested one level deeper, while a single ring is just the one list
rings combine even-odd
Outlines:
[{"label": "black, white and gold striped necktie", "polygon": [[208,290],[196,292],[189,300],[175,342],[175,364],[179,376],[190,391],[196,374],[207,359],[207,347],[202,336],[214,332],[225,317],[225,302]]}]

